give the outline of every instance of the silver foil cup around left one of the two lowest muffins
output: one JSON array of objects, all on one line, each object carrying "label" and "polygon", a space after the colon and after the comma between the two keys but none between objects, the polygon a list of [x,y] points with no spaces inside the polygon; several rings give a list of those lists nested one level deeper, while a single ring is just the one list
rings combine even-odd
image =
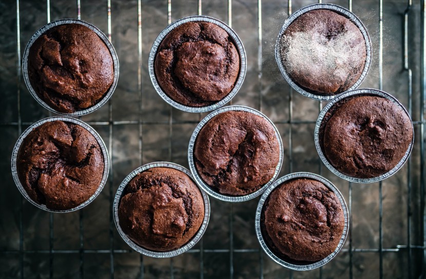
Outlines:
[{"label": "silver foil cup around left one of the two lowest muffins", "polygon": [[[119,231],[121,237],[123,238],[123,240],[127,243],[127,245],[129,245],[133,250],[146,255],[146,256],[150,256],[150,257],[174,257],[177,256],[179,254],[182,254],[184,252],[186,252],[187,250],[189,250],[192,246],[196,245],[197,242],[201,239],[201,237],[203,236],[206,228],[207,228],[207,224],[210,218],[210,201],[208,200],[208,196],[207,194],[200,189],[200,192],[203,196],[203,200],[204,200],[204,220],[203,223],[201,224],[200,229],[198,230],[197,234],[192,237],[192,239],[185,244],[184,246],[177,248],[177,249],[173,249],[170,251],[164,251],[164,252],[157,252],[157,251],[152,251],[152,250],[147,250],[141,246],[139,246],[138,244],[134,243],[128,236],[127,234],[125,234],[123,232],[123,230],[120,227],[120,220],[119,220],[119,205],[120,205],[120,200],[121,200],[121,196],[123,194],[124,189],[126,188],[127,184],[129,184],[129,182],[133,179],[133,177],[135,177],[136,175],[138,175],[141,172],[144,172],[148,169],[151,168],[172,168],[172,169],[177,169],[182,171],[183,173],[185,173],[186,175],[188,175],[192,181],[194,181],[192,174],[189,172],[189,170],[185,169],[184,167],[182,167],[181,165],[175,164],[175,163],[169,163],[169,162],[155,162],[155,163],[150,163],[150,164],[146,164],[143,165],[137,169],[135,169],[134,171],[132,171],[129,175],[127,175],[126,178],[124,178],[123,182],[120,184],[119,189],[117,190],[117,193],[115,193],[115,198],[114,198],[114,204],[112,206],[112,211],[114,213],[114,223],[115,223],[115,227],[117,227],[117,230]],[[196,184],[197,185],[197,184]]]}]

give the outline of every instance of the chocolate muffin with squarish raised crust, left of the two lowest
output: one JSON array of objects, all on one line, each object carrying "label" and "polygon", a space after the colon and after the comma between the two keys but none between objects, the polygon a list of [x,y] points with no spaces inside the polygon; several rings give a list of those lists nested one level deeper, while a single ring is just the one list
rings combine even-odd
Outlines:
[{"label": "chocolate muffin with squarish raised crust, left of the two lowest", "polygon": [[118,216],[121,229],[134,243],[148,250],[169,251],[197,234],[204,219],[204,200],[184,172],[151,168],[126,186]]}]

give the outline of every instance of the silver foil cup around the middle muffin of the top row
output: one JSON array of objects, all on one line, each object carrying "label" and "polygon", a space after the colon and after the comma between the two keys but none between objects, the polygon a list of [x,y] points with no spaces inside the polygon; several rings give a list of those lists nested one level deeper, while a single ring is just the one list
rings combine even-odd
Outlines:
[{"label": "silver foil cup around the middle muffin of the top row", "polygon": [[[217,26],[221,27],[223,30],[225,30],[229,36],[233,39],[235,46],[237,47],[238,54],[240,55],[240,72],[238,74],[237,81],[235,82],[234,88],[220,101],[213,103],[208,106],[203,107],[191,107],[186,106],[183,104],[180,104],[170,98],[164,91],[161,89],[160,85],[158,84],[156,73],[154,72],[154,59],[156,58],[156,54],[158,51],[158,48],[163,41],[164,37],[173,29],[176,27],[188,23],[188,22],[208,22],[212,24],[216,24]],[[184,17],[182,19],[179,19],[178,21],[170,24],[169,26],[164,29],[160,35],[156,38],[156,41],[154,41],[154,44],[152,45],[151,52],[149,53],[149,61],[148,61],[148,70],[149,70],[149,76],[151,77],[151,82],[154,88],[156,89],[157,93],[166,101],[169,105],[172,107],[175,107],[177,109],[186,111],[186,112],[206,112],[210,110],[217,109],[223,105],[225,105],[227,102],[229,102],[235,94],[237,94],[238,90],[240,90],[241,85],[243,84],[245,72],[246,72],[246,55],[243,43],[241,42],[241,39],[238,37],[237,33],[233,29],[231,29],[229,26],[227,26],[225,23],[219,21],[219,19],[209,17],[209,16],[203,16],[203,15],[193,15]]]}]

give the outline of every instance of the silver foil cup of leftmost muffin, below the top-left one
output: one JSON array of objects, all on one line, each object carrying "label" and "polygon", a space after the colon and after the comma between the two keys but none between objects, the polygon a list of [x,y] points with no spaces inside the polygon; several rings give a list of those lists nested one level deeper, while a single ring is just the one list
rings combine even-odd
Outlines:
[{"label": "silver foil cup of leftmost muffin, below the top-left one", "polygon": [[[48,209],[46,207],[46,205],[40,205],[40,204],[37,204],[36,202],[34,202],[30,198],[30,196],[27,194],[27,191],[25,191],[24,187],[22,186],[21,181],[19,180],[19,177],[18,177],[17,169],[16,169],[16,160],[17,160],[18,152],[21,148],[21,145],[22,145],[22,142],[24,141],[24,138],[29,133],[31,133],[34,128],[41,126],[44,123],[53,122],[53,121],[63,121],[63,122],[69,122],[69,123],[77,124],[77,125],[80,125],[81,127],[83,127],[84,129],[86,129],[87,131],[89,131],[94,136],[96,141],[98,142],[99,147],[101,148],[101,151],[102,151],[102,155],[104,156],[104,173],[102,175],[102,180],[101,180],[101,183],[99,184],[98,189],[96,189],[94,194],[87,201],[85,201],[84,203],[82,203],[79,206],[76,206],[72,209],[67,209],[67,210],[52,210],[52,209]],[[34,205],[34,206],[36,206],[40,209],[43,209],[43,210],[49,211],[49,212],[66,213],[66,212],[76,211],[76,210],[79,210],[79,209],[87,206],[99,195],[99,193],[101,193],[101,191],[104,188],[105,183],[107,181],[108,173],[109,173],[109,156],[108,156],[108,151],[106,149],[105,143],[102,140],[101,136],[98,134],[98,132],[96,132],[92,127],[90,127],[89,125],[87,125],[83,121],[81,121],[79,119],[72,118],[72,117],[54,116],[54,117],[48,117],[48,118],[42,119],[40,121],[37,121],[36,123],[34,123],[30,127],[28,127],[25,130],[25,132],[18,138],[18,141],[16,142],[15,147],[13,148],[13,151],[12,151],[12,176],[13,176],[13,180],[16,184],[16,187],[21,192],[21,194],[26,198],[26,200],[28,202],[30,202],[32,205]]]}]

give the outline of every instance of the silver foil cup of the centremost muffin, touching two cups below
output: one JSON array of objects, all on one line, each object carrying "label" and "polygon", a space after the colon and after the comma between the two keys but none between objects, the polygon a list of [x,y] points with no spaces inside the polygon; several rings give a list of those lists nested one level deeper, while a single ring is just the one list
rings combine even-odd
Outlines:
[{"label": "silver foil cup of the centremost muffin, touching two cups below", "polygon": [[[226,111],[246,111],[246,112],[250,112],[250,113],[253,113],[253,114],[256,114],[258,116],[263,117],[264,119],[266,119],[270,123],[270,125],[272,125],[272,127],[274,127],[275,135],[278,139],[278,146],[279,146],[280,154],[279,154],[279,159],[278,159],[278,165],[275,168],[274,175],[272,176],[272,178],[270,178],[268,183],[266,183],[265,185],[260,187],[257,191],[255,191],[253,193],[246,194],[246,195],[241,195],[241,196],[225,195],[225,194],[221,194],[218,191],[214,190],[209,185],[207,185],[204,182],[204,180],[201,178],[201,176],[198,174],[198,171],[197,171],[197,168],[196,168],[195,162],[194,162],[193,152],[194,152],[194,145],[195,145],[195,142],[197,140],[198,133],[200,132],[200,130],[204,127],[204,125],[211,118],[215,117],[216,115],[218,115],[222,112],[226,112]],[[202,121],[197,125],[197,127],[195,128],[195,130],[192,133],[191,138],[189,139],[188,162],[189,162],[189,169],[191,170],[192,175],[195,177],[195,181],[210,196],[215,197],[215,198],[217,198],[221,201],[225,201],[225,202],[244,202],[244,201],[251,200],[252,198],[255,198],[258,195],[260,195],[261,193],[263,193],[266,190],[266,188],[268,188],[269,185],[271,185],[274,182],[275,178],[277,177],[278,173],[280,172],[281,166],[282,166],[282,157],[283,157],[283,147],[282,147],[280,132],[278,131],[277,127],[275,127],[274,123],[272,121],[270,121],[270,119],[266,115],[261,113],[260,111],[255,110],[253,108],[245,107],[245,106],[227,106],[227,107],[215,110],[214,112],[211,112],[206,117],[204,117],[204,119],[202,119]]]}]

